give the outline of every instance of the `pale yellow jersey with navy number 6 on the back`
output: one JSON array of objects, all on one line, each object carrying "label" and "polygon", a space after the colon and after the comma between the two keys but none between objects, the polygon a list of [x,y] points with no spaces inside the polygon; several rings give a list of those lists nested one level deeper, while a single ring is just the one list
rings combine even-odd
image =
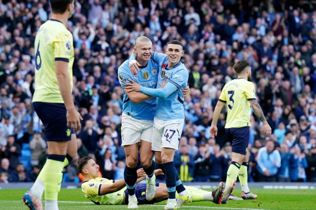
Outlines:
[{"label": "pale yellow jersey with navy number 6 on the back", "polygon": [[64,103],[60,94],[55,61],[68,62],[71,90],[74,62],[73,38],[59,20],[47,20],[35,37],[35,92],[33,102]]}]

